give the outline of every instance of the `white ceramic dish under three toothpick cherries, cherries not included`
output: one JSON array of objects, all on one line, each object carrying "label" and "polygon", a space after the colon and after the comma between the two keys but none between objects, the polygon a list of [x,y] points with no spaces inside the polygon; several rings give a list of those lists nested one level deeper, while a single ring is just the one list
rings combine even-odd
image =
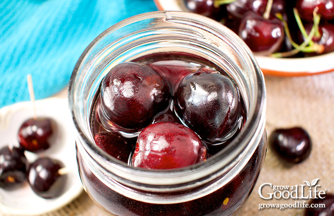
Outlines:
[{"label": "white ceramic dish under three toothpick cherries, cherries not included", "polygon": [[[38,116],[47,116],[56,120],[57,134],[55,143],[47,150],[35,154],[25,152],[29,162],[37,157],[48,156],[60,160],[69,168],[68,181],[64,193],[54,199],[37,196],[26,182],[22,188],[7,191],[0,189],[0,213],[6,215],[41,215],[61,208],[71,202],[83,187],[78,173],[75,135],[72,118],[66,99],[44,99],[36,101]],[[30,102],[17,103],[0,109],[0,148],[5,145],[19,146],[17,132],[24,120],[33,116]]]}]

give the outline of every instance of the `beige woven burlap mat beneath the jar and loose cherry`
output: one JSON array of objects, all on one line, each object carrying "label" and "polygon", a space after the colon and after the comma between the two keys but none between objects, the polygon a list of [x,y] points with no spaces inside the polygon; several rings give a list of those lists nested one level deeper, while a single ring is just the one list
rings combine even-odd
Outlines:
[{"label": "beige woven burlap mat beneath the jar and loose cherry", "polygon": [[[334,193],[334,72],[292,78],[265,76],[265,81],[268,136],[275,128],[301,126],[311,136],[313,149],[306,161],[289,166],[268,148],[264,167],[241,215],[302,216],[305,211],[303,208],[259,210],[259,204],[293,204],[296,200],[264,200],[260,198],[258,189],[264,183],[295,186],[319,178],[320,189]],[[100,215],[103,213],[83,192],[69,205],[44,216]]]}]

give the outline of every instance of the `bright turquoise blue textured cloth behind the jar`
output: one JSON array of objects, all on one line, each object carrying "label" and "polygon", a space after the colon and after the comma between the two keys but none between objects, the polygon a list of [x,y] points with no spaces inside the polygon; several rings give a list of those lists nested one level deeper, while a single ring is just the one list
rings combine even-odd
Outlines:
[{"label": "bright turquoise blue textured cloth behind the jar", "polygon": [[57,93],[96,36],[155,10],[153,0],[1,0],[0,108],[29,100],[28,74],[36,99]]}]

